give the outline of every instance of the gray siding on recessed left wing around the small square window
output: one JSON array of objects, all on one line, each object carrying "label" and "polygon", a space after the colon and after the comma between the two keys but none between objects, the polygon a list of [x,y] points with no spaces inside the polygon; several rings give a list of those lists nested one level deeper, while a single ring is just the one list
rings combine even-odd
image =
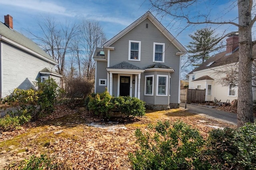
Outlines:
[{"label": "gray siding on recessed left wing around the small square window", "polygon": [[96,73],[96,92],[103,93],[107,86],[99,86],[99,79],[107,79],[106,68],[108,63],[106,61],[97,61],[97,73]]}]

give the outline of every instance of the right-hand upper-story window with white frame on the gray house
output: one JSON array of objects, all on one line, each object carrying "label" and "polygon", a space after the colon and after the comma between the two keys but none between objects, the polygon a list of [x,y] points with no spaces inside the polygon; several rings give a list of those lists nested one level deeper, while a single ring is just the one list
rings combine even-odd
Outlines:
[{"label": "right-hand upper-story window with white frame on the gray house", "polygon": [[154,43],[153,62],[164,63],[164,43]]}]

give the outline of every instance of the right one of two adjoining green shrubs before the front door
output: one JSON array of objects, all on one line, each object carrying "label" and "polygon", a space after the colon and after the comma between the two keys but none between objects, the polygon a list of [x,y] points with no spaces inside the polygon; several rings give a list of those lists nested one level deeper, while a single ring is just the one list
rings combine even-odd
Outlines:
[{"label": "right one of two adjoining green shrubs before the front door", "polygon": [[114,98],[115,109],[126,116],[143,116],[146,113],[145,102],[130,96]]}]

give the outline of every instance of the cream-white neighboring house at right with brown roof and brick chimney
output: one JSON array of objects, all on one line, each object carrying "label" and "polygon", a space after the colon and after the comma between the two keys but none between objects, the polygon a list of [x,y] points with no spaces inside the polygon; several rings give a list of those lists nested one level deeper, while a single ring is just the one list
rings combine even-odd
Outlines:
[{"label": "cream-white neighboring house at right with brown roof and brick chimney", "polygon": [[238,87],[226,80],[237,76],[231,72],[238,71],[238,35],[231,35],[226,41],[226,51],[210,57],[188,74],[189,89],[206,89],[206,101],[231,102],[237,99]]}]

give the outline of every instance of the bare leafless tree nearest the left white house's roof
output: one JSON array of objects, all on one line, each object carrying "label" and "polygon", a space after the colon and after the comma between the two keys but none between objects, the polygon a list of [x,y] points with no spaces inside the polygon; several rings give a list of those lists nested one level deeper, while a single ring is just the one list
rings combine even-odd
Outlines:
[{"label": "bare leafless tree nearest the left white house's roof", "polygon": [[[61,25],[56,23],[53,18],[44,18],[38,23],[40,27],[41,35],[38,36],[34,33],[30,33],[37,40],[38,45],[46,51],[53,59],[58,62],[57,72],[61,75],[64,74],[66,55],[70,53],[70,44],[72,39],[78,32],[76,24]],[[61,86],[64,87],[64,79],[60,80]]]}]

